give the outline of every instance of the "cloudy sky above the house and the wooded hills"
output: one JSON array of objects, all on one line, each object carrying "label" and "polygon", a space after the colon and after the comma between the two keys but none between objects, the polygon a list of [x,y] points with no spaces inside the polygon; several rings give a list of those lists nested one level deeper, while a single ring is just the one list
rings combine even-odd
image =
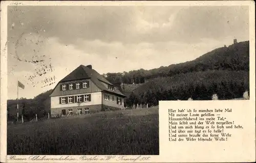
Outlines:
[{"label": "cloudy sky above the house and the wooded hills", "polygon": [[79,65],[100,74],[194,60],[249,40],[248,6],[9,6],[8,99],[53,89]]}]

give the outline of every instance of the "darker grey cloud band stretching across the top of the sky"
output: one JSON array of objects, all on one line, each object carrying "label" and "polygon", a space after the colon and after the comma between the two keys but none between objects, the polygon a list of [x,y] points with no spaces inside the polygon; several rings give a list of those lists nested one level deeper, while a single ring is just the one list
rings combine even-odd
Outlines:
[{"label": "darker grey cloud band stretching across the top of the sky", "polygon": [[63,44],[77,39],[131,43],[248,37],[249,28],[246,6],[20,6],[8,16],[9,32],[14,23],[20,32],[45,30],[42,35]]}]

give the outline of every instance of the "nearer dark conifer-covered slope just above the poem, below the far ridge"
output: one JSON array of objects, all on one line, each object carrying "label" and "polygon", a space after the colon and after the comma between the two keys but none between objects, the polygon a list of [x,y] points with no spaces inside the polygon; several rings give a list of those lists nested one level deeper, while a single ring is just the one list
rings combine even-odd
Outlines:
[{"label": "nearer dark conifer-covered slope just above the poem, below the far ridge", "polygon": [[211,100],[217,94],[220,100],[241,98],[249,91],[249,72],[211,70],[180,73],[169,77],[154,78],[137,89],[126,99],[134,103],[157,105],[159,100]]}]

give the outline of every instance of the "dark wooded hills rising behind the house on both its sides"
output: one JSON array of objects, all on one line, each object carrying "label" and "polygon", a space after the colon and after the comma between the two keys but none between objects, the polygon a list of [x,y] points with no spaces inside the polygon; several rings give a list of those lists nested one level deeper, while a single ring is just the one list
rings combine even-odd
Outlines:
[{"label": "dark wooded hills rising behind the house on both its sides", "polygon": [[[127,95],[125,105],[158,100],[209,100],[213,93],[219,99],[239,98],[249,91],[249,41],[220,47],[185,63],[161,66],[151,70],[106,73],[106,79]],[[148,82],[144,83],[144,80]],[[121,85],[124,83],[125,85]],[[130,85],[133,83],[143,83]],[[127,89],[129,88],[129,89]],[[49,90],[33,99],[20,99],[20,114],[27,120],[46,116],[50,112]],[[16,100],[8,100],[9,119],[17,115]]]}]

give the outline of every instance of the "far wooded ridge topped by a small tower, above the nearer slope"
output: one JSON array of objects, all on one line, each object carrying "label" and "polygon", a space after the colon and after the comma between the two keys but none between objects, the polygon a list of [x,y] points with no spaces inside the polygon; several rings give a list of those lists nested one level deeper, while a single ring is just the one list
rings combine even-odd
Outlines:
[{"label": "far wooded ridge topped by a small tower, above the nearer slope", "polygon": [[140,69],[123,73],[107,73],[105,75],[111,83],[138,84],[144,83],[145,79],[207,70],[248,71],[249,41],[211,50],[193,61],[172,64],[166,67],[161,66],[151,70]]}]

